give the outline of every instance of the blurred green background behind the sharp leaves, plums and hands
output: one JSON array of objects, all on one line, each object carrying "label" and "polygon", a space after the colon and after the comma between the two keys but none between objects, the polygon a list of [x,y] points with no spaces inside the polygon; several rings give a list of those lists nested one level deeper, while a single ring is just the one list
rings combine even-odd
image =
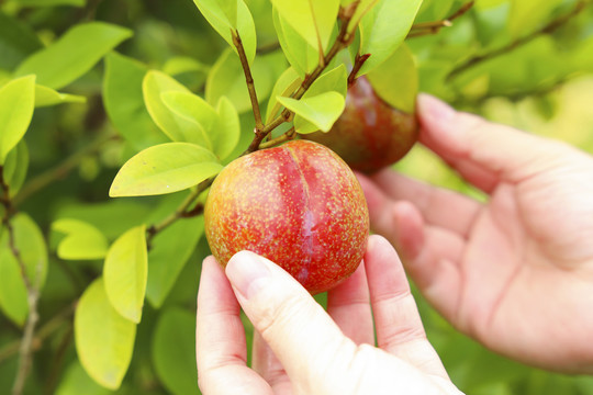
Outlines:
[{"label": "blurred green background behind the sharp leaves, plums and hands", "polygon": [[[268,0],[246,1],[254,13],[260,47],[275,47]],[[417,22],[443,20],[465,1],[425,1]],[[593,11],[591,3],[552,34],[508,49],[448,77],[471,57],[507,47],[567,14],[579,1],[477,1],[451,27],[409,38],[421,76],[421,89],[456,108],[529,133],[558,138],[593,154]],[[523,8],[522,8],[523,7]],[[529,9],[529,7],[532,7]],[[527,11],[525,11],[527,8]],[[534,10],[538,10],[535,12]],[[257,11],[254,11],[257,10]],[[0,0],[0,84],[30,54],[54,42],[68,29],[91,20],[126,26],[133,38],[118,52],[148,68],[164,70],[203,94],[210,67],[226,44],[208,25],[191,0]],[[145,221],[158,198],[108,198],[119,167],[133,149],[119,139],[76,156],[98,137],[116,133],[102,102],[104,66],[64,91],[87,103],[35,111],[26,134],[30,167],[23,190],[31,193],[20,210],[42,227],[49,245],[49,273],[41,300],[41,324],[27,394],[195,394],[194,308],[201,260],[209,253],[204,238],[177,276],[159,309],[147,304],[138,326],[134,357],[116,392],[96,384],[77,360],[72,335],[72,303],[100,273],[101,262],[66,262],[57,258],[53,221],[77,217],[114,238]],[[242,115],[243,142],[250,139],[253,120]],[[76,157],[63,172],[65,158]],[[466,185],[439,159],[416,146],[395,168],[434,184],[484,196]],[[31,187],[31,185],[34,187]],[[318,297],[323,303],[323,295]],[[452,381],[477,395],[593,394],[593,377],[567,376],[532,369],[493,354],[458,334],[416,293],[428,337]],[[246,332],[250,338],[250,326]],[[9,393],[16,371],[21,328],[0,314],[0,393]]]}]

